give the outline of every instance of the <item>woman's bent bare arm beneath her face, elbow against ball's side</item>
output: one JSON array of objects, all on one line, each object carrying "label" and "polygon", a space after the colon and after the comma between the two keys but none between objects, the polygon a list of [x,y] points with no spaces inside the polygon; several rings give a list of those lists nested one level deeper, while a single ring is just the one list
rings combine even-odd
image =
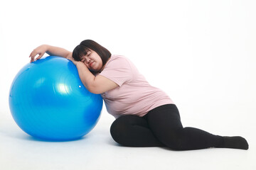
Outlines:
[{"label": "woman's bent bare arm beneath her face, elbow against ball's side", "polygon": [[85,88],[92,94],[102,94],[105,91],[116,88],[118,85],[106,77],[98,75],[95,77],[82,62],[71,60],[78,68],[78,74]]}]

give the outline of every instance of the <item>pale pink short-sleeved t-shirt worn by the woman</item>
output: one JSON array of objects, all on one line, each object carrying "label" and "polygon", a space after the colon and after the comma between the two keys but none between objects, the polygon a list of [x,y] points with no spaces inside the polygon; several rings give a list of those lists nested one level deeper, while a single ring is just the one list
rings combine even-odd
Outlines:
[{"label": "pale pink short-sleeved t-shirt worn by the woman", "polygon": [[119,86],[102,94],[107,111],[121,115],[144,116],[151,109],[174,103],[164,91],[151,86],[131,61],[122,55],[112,55],[100,73]]}]

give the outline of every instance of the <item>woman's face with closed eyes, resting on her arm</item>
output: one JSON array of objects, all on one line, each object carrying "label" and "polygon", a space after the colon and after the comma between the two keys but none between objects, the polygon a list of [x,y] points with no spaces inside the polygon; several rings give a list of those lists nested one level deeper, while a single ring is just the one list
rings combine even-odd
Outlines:
[{"label": "woman's face with closed eyes, resting on her arm", "polygon": [[82,56],[81,62],[85,63],[86,67],[92,72],[100,72],[103,67],[100,55],[93,50],[89,50],[87,55]]}]

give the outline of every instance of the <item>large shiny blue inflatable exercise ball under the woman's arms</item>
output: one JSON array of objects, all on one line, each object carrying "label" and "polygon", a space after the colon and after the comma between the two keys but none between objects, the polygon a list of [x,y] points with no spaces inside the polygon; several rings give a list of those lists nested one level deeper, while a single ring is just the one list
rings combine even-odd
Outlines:
[{"label": "large shiny blue inflatable exercise ball under the woman's arms", "polygon": [[70,60],[49,56],[26,64],[11,84],[9,107],[17,125],[41,140],[77,140],[100,118],[102,97],[83,86]]}]

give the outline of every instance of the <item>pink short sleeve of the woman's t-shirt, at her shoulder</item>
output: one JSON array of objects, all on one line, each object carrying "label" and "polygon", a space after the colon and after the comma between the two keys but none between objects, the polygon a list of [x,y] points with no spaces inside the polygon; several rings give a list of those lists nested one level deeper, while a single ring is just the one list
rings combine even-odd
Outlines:
[{"label": "pink short sleeve of the woman's t-shirt, at her shoulder", "polygon": [[99,75],[114,81],[118,86],[122,86],[125,82],[132,80],[132,69],[125,57],[114,56],[107,62]]}]

